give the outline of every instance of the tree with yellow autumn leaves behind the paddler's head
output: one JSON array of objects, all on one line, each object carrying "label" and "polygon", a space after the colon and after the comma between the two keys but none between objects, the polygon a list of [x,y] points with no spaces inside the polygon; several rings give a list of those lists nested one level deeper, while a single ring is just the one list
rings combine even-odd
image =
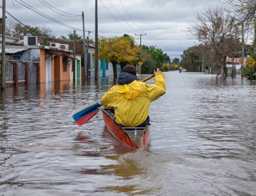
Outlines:
[{"label": "tree with yellow autumn leaves behind the paddler's head", "polygon": [[[133,38],[132,38],[133,39]],[[114,78],[117,78],[117,63],[131,63],[137,58],[139,46],[131,43],[131,37],[101,38],[98,43],[98,57],[112,62]]]}]

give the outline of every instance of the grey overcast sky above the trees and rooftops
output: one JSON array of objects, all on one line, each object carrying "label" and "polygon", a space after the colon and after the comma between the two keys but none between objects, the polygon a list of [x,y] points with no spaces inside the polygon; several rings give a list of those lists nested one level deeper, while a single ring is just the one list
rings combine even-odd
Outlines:
[{"label": "grey overcast sky above the trees and rooftops", "polygon": [[[138,34],[143,34],[142,45],[162,49],[172,59],[180,58],[183,50],[198,44],[196,37],[187,32],[196,21],[196,13],[216,6],[224,5],[219,0],[98,0],[98,35],[125,33],[140,44]],[[52,28],[56,37],[73,33],[74,29],[82,35],[83,11],[86,37],[91,31],[90,38],[95,40],[95,0],[6,0],[6,11],[26,25]],[[13,20],[9,14],[6,16]]]}]

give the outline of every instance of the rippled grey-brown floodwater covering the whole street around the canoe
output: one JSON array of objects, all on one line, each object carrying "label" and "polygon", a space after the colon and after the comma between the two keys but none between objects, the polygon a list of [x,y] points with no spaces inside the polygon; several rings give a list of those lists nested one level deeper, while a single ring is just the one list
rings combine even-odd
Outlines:
[{"label": "rippled grey-brown floodwater covering the whole street around the canoe", "polygon": [[145,151],[110,135],[101,112],[83,126],[73,121],[111,78],[7,88],[0,195],[256,195],[256,82],[185,72],[165,81]]}]

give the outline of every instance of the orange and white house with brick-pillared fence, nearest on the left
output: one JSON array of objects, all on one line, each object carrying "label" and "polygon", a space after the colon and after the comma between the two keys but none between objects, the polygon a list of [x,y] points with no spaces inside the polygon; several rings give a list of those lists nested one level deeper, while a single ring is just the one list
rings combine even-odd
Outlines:
[{"label": "orange and white house with brick-pillared fence, nearest on the left", "polygon": [[81,79],[81,55],[73,57],[68,45],[38,45],[36,36],[25,36],[24,46],[6,45],[6,60],[6,85]]}]

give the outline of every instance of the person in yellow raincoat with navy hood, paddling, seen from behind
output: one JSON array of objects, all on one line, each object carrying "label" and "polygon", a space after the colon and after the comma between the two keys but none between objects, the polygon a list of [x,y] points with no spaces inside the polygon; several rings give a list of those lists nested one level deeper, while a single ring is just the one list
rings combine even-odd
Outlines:
[{"label": "person in yellow raincoat with navy hood, paddling, seen from behind", "polygon": [[152,101],[165,94],[164,74],[157,69],[155,84],[138,80],[134,66],[125,66],[117,84],[101,98],[105,107],[114,107],[116,123],[126,127],[143,127],[150,124],[148,107]]}]

